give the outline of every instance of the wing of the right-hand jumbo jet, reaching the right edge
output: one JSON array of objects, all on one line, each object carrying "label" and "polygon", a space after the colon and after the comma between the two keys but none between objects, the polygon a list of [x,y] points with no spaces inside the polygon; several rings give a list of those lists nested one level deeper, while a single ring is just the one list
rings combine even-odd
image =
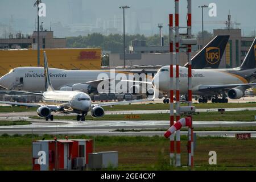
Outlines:
[{"label": "wing of the right-hand jumbo jet, reaching the right edge", "polygon": [[208,90],[229,90],[237,86],[242,86],[247,89],[250,87],[255,87],[256,83],[252,84],[226,84],[226,85],[200,85],[199,91],[208,91]]}]

